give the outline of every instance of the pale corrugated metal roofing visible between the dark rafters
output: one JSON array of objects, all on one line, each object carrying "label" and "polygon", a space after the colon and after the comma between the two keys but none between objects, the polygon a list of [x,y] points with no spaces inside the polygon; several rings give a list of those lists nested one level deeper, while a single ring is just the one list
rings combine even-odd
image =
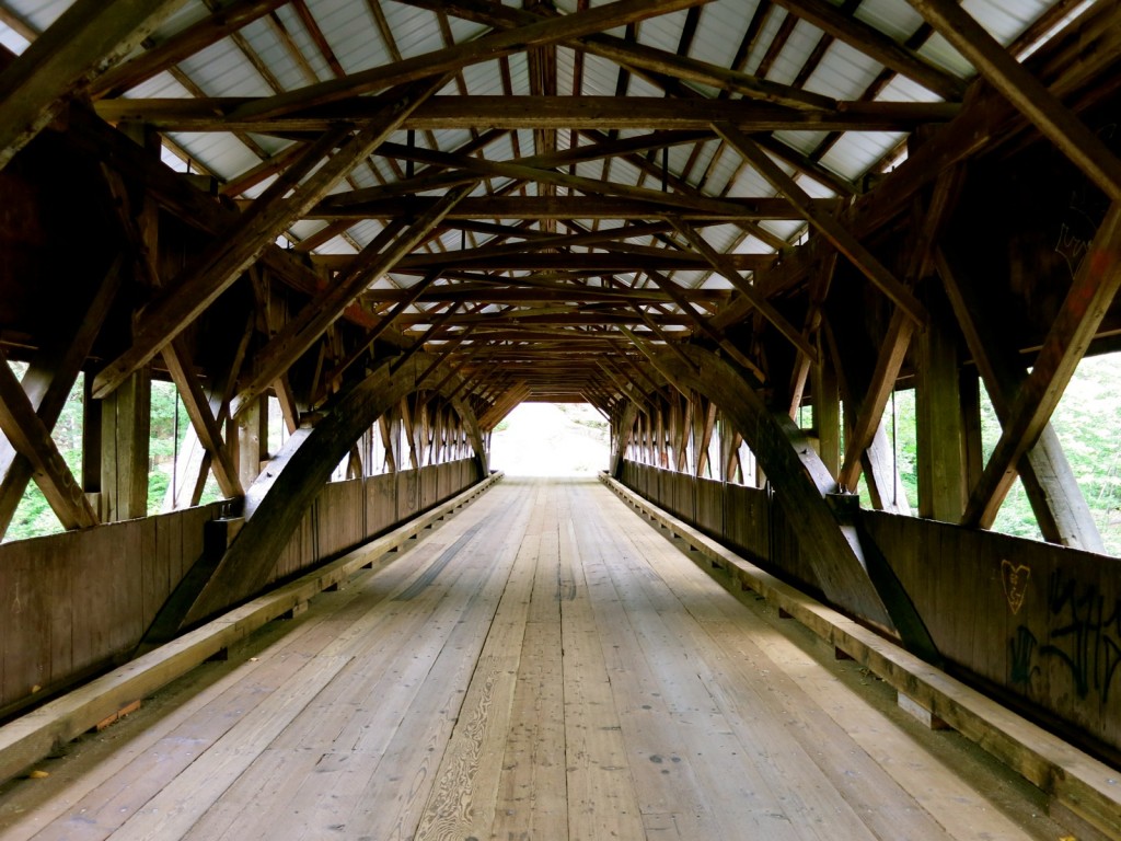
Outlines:
[{"label": "pale corrugated metal roofing visible between the dark rafters", "polygon": [[[378,1],[378,0],[376,0]],[[507,0],[509,6],[521,7],[516,0]],[[591,6],[602,6],[605,0],[593,0]],[[827,2],[827,0],[822,0]],[[1043,13],[1054,0],[965,0],[964,8],[988,29],[997,40],[1008,44]],[[68,6],[70,0],[0,0],[0,4],[9,12],[21,18],[31,29],[41,31],[48,27]],[[371,12],[370,3],[358,0],[306,0],[307,8],[330,46],[334,58],[348,73],[388,64],[395,61],[395,54],[404,57],[424,55],[446,46],[437,15],[426,9],[419,9],[397,0],[380,0],[380,9],[385,15],[390,33],[391,44],[379,29]],[[556,9],[562,13],[576,11],[576,0],[557,0]],[[733,62],[748,27],[757,12],[758,0],[716,0],[701,7],[697,16],[697,27],[692,39],[688,55],[693,58],[728,67]],[[172,15],[157,28],[152,40],[159,43],[180,31],[184,27],[209,15],[202,0],[187,0],[179,10]],[[743,71],[754,73],[763,56],[770,50],[779,33],[787,12],[778,4],[771,7],[759,36],[747,56]],[[637,27],[638,43],[670,53],[676,53],[682,41],[688,12],[678,11],[641,21]],[[906,40],[923,25],[921,18],[905,0],[862,0],[854,16],[876,29],[897,40]],[[463,20],[454,15],[445,17],[446,27],[454,43],[479,36],[487,28]],[[280,37],[286,33],[297,46],[300,56],[293,55]],[[623,36],[624,29],[612,31]],[[793,28],[787,41],[775,56],[767,78],[772,82],[791,83],[802,72],[807,59],[814,52],[822,31],[806,22],[798,21]],[[284,4],[276,11],[276,22],[268,17],[260,18],[240,30],[242,43],[259,56],[275,83],[280,90],[300,87],[315,81],[334,77],[334,71],[325,55],[316,45],[314,38],[289,4]],[[0,44],[13,52],[26,48],[26,39],[7,25],[0,24]],[[577,75],[577,54],[565,46],[556,47],[556,83],[557,93],[562,95],[613,95],[620,81],[620,67],[613,62],[592,54],[583,54]],[[956,50],[949,47],[941,36],[934,35],[925,40],[917,53],[958,76],[970,77],[972,67]],[[311,68],[311,73],[308,72]],[[247,56],[242,46],[232,38],[224,38],[217,44],[184,59],[178,70],[189,77],[195,87],[207,96],[262,96],[275,92],[274,82],[261,74]],[[508,71],[509,90],[503,83],[503,71]],[[852,46],[834,39],[824,50],[816,68],[809,74],[805,89],[839,100],[860,99],[877,76],[883,71],[881,64]],[[313,77],[314,75],[314,77]],[[575,90],[576,80],[580,89]],[[463,85],[471,95],[498,95],[512,93],[528,95],[531,93],[529,66],[524,54],[510,56],[504,64],[488,61],[465,67],[462,72]],[[714,89],[696,83],[686,83],[697,95],[716,96]],[[457,87],[448,85],[447,92]],[[663,96],[659,87],[646,81],[641,74],[630,74],[627,80],[627,93],[631,96]],[[184,98],[192,95],[169,73],[161,73],[152,80],[138,85],[127,95],[138,98]],[[877,95],[886,101],[933,101],[937,96],[923,85],[896,75]],[[637,133],[637,132],[636,132]],[[557,144],[560,149],[568,148],[573,142],[574,132],[558,131]],[[626,132],[624,132],[626,136]],[[791,149],[809,155],[818,148],[826,132],[821,131],[780,131],[776,139]],[[436,148],[442,151],[453,150],[470,141],[467,130],[444,130],[432,132]],[[821,165],[826,169],[855,182],[869,169],[876,167],[884,157],[897,148],[902,139],[899,132],[846,132],[841,136],[824,155]],[[232,179],[260,163],[257,150],[247,146],[231,133],[215,132],[194,135],[176,132],[170,136],[193,160],[204,166],[209,172],[223,179]],[[515,144],[515,139],[517,144]],[[397,132],[392,140],[406,142],[406,135]],[[287,144],[286,140],[272,137],[252,138],[253,145],[265,154],[272,155]],[[429,146],[427,132],[418,132],[415,142],[421,147]],[[586,142],[586,141],[584,141]],[[534,136],[530,131],[519,131],[513,136],[504,135],[490,145],[485,154],[492,159],[511,159],[518,155],[531,155]],[[174,160],[165,156],[168,160]],[[689,161],[692,167],[686,172]],[[660,163],[660,156],[659,156]],[[785,170],[790,167],[781,160],[777,161]],[[739,156],[723,148],[716,140],[705,142],[700,151],[693,146],[677,146],[668,153],[669,170],[675,176],[685,179],[710,195],[728,196],[770,196],[775,190],[750,167],[741,166]],[[179,165],[182,168],[182,165]],[[372,168],[371,168],[372,167]],[[404,169],[404,163],[398,164]],[[419,165],[418,165],[419,168]],[[642,174],[632,164],[614,159],[604,167],[603,161],[581,163],[576,166],[577,175],[589,178],[606,178],[623,184],[639,184],[659,188],[657,179]],[[398,177],[393,166],[383,159],[374,158],[369,166],[358,167],[351,176],[351,184],[356,187],[376,186],[381,182],[393,182]],[[798,184],[810,195],[831,196],[832,192],[805,175],[797,176]],[[504,179],[493,179],[494,186],[502,185]],[[259,195],[266,184],[247,192],[247,195]],[[336,191],[349,190],[345,182]],[[530,187],[534,194],[536,187]],[[483,194],[480,185],[478,194]],[[558,188],[564,194],[564,188]],[[605,222],[586,223],[587,229],[605,227]],[[323,227],[322,223],[302,222],[294,227],[291,235],[300,240]],[[800,222],[766,222],[763,228],[780,238],[797,237],[803,230]],[[378,222],[358,222],[349,229],[346,237],[334,237],[317,250],[324,253],[346,253],[369,243],[381,229]],[[745,235],[742,230],[732,225],[713,227],[705,231],[705,237],[722,250],[742,252],[769,252],[772,247],[752,235]],[[474,238],[473,238],[474,239]],[[354,244],[352,244],[354,243]],[[446,248],[460,247],[458,237],[444,234]],[[677,272],[684,283],[701,283],[701,272]],[[401,283],[407,283],[401,278]],[[719,283],[719,281],[717,281]]]}]

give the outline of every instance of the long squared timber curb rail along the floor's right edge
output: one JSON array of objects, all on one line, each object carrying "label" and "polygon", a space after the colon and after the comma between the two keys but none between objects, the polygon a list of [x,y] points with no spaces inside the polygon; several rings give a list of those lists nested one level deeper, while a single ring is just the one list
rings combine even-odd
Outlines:
[{"label": "long squared timber curb rail along the floor's right edge", "polygon": [[639,514],[685,540],[725,585],[753,590],[1048,794],[1105,837],[1121,839],[1121,773],[1067,745],[887,639],[782,583],[622,483],[601,481]]}]

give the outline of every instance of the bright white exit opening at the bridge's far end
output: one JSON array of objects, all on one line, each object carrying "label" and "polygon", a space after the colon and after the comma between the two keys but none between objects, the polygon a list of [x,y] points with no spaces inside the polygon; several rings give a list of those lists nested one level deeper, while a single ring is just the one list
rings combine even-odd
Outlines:
[{"label": "bright white exit opening at the bridge's far end", "polygon": [[586,403],[522,403],[491,435],[491,468],[508,475],[595,475],[609,454],[608,422]]}]

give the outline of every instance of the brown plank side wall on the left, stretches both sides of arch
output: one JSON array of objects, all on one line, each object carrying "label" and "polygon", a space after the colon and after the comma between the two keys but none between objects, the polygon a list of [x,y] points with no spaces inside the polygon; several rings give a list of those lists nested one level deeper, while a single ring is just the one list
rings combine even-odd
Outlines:
[{"label": "brown plank side wall on the left, stretches both sides of arch", "polygon": [[[478,481],[472,460],[425,471],[433,503]],[[270,580],[413,517],[420,486],[415,471],[326,486]],[[205,524],[223,505],[0,545],[0,713],[127,657],[202,555]]]}]

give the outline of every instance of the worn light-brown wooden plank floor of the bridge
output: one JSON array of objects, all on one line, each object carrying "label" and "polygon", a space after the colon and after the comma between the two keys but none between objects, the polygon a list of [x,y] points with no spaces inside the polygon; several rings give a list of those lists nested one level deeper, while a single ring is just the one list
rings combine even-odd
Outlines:
[{"label": "worn light-brown wooden plank floor of the bridge", "polygon": [[1059,839],[595,481],[507,479],[0,789],[2,839]]}]

